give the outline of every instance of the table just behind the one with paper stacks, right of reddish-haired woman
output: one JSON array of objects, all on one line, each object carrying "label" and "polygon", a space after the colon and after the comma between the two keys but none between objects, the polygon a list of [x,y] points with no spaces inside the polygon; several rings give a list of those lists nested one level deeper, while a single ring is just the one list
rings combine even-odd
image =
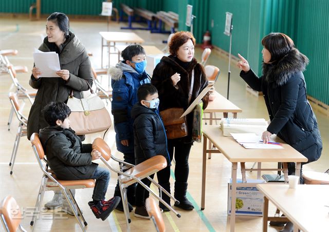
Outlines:
[{"label": "table just behind the one with paper stacks, right of reddish-haired woman", "polygon": [[[237,113],[241,113],[242,109],[234,105],[232,102],[227,100],[222,94],[217,91],[213,91],[215,98],[213,101],[208,103],[207,108],[204,113],[209,113],[209,118],[204,118],[204,120],[209,120],[209,124],[212,125],[213,120],[220,120],[221,118],[216,117],[216,113],[223,113],[223,118],[228,118],[228,113],[233,114],[233,118],[237,118]],[[209,148],[211,148],[211,142],[209,141]],[[211,159],[211,153],[208,154],[208,159]]]}]

